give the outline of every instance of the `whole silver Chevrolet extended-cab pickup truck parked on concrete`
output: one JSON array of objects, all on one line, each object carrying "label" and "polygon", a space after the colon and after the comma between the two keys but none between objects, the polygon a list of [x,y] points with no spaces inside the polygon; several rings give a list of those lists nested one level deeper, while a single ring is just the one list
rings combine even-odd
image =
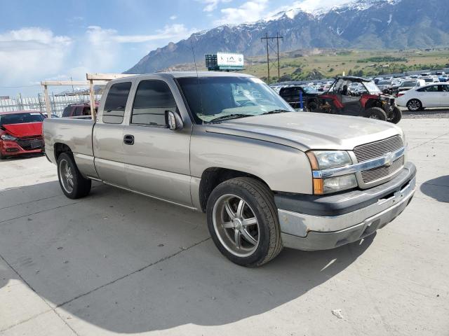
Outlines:
[{"label": "whole silver Chevrolet extended-cab pickup truck parked on concrete", "polygon": [[283,248],[335,248],[407,207],[415,166],[399,127],[296,112],[253,76],[156,73],[112,80],[96,120],[46,119],[67,197],[91,180],[207,216],[217,248],[259,266]]}]

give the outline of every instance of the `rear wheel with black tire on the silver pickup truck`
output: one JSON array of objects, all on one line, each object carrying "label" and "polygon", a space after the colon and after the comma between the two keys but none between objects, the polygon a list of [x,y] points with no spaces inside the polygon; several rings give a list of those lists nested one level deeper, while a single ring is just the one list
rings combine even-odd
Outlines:
[{"label": "rear wheel with black tire on the silver pickup truck", "polygon": [[69,153],[59,155],[58,179],[62,193],[72,200],[85,197],[91,192],[92,181],[81,175],[73,156]]}]

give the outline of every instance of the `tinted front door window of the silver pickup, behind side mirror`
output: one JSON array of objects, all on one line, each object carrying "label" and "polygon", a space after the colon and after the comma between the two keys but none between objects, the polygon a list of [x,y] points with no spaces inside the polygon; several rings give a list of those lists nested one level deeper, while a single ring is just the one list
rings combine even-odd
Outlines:
[{"label": "tinted front door window of the silver pickup, behind side mirror", "polygon": [[173,94],[162,80],[142,80],[135,92],[131,124],[166,127],[166,111],[176,110]]}]

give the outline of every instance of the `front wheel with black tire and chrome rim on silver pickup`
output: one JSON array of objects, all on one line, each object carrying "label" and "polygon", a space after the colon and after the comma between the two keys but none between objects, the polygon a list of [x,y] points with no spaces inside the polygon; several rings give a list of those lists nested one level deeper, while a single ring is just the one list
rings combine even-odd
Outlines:
[{"label": "front wheel with black tire and chrome rim on silver pickup", "polygon": [[237,265],[257,267],[282,250],[273,193],[249,177],[217,186],[207,204],[207,221],[215,246]]}]

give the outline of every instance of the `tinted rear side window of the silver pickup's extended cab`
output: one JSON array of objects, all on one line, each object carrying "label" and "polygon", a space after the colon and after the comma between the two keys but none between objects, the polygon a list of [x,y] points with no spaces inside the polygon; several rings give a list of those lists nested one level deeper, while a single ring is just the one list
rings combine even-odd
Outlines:
[{"label": "tinted rear side window of the silver pickup's extended cab", "polygon": [[121,124],[125,114],[126,102],[131,88],[131,82],[116,83],[107,92],[103,123]]}]

